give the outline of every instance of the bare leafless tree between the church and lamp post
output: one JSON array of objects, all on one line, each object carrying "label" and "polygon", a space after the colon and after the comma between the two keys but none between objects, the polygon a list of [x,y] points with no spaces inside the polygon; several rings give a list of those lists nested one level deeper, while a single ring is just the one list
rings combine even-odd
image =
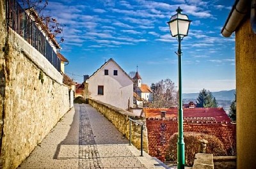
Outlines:
[{"label": "bare leafless tree between the church and lamp post", "polygon": [[177,90],[170,78],[151,84],[153,101],[151,107],[177,107]]}]

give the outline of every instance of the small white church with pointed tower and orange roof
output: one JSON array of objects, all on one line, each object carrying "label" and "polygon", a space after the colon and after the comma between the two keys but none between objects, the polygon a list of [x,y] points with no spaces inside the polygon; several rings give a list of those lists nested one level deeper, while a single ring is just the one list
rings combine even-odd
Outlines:
[{"label": "small white church with pointed tower and orange roof", "polygon": [[[148,87],[147,84],[142,84],[142,79],[141,79],[138,71],[136,71],[133,81],[134,81],[133,90],[137,94],[137,96],[143,100],[143,103],[152,102],[152,90],[150,89],[150,87]],[[138,97],[136,97],[136,98],[138,98]],[[140,102],[140,99],[137,99],[136,102],[137,102],[138,107],[141,107],[141,104],[138,104],[138,102]]]}]

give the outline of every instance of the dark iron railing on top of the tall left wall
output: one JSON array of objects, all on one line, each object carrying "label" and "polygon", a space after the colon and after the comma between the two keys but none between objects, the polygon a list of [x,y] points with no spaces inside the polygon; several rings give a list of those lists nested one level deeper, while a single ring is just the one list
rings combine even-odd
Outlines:
[{"label": "dark iron railing on top of the tall left wall", "polygon": [[7,26],[28,41],[30,45],[51,62],[56,70],[60,71],[60,59],[54,52],[49,40],[17,0],[6,0],[6,22]]}]

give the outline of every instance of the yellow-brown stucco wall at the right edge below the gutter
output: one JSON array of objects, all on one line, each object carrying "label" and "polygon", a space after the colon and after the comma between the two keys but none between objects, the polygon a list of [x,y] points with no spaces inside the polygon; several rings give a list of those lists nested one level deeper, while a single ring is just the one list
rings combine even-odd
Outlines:
[{"label": "yellow-brown stucco wall at the right edge below the gutter", "polygon": [[256,34],[250,18],[236,31],[237,168],[256,167]]}]

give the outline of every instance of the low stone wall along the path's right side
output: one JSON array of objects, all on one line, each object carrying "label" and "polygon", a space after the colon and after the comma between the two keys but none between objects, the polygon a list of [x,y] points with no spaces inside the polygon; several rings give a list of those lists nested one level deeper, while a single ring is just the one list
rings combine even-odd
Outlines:
[{"label": "low stone wall along the path's right side", "polygon": [[[132,114],[131,112],[127,112],[121,108],[113,107],[112,105],[102,103],[101,101],[97,101],[95,99],[89,98],[88,103],[92,105],[92,107],[96,108],[101,114],[103,114],[109,121],[111,121],[114,126],[129,139],[129,119],[136,119],[145,124],[145,119],[139,116]],[[132,131],[132,145],[134,145],[137,149],[140,149],[141,143],[141,127],[140,125],[136,125],[132,122],[131,125]],[[148,152],[148,137],[147,137],[147,128],[144,125],[143,129],[143,150]]]}]

